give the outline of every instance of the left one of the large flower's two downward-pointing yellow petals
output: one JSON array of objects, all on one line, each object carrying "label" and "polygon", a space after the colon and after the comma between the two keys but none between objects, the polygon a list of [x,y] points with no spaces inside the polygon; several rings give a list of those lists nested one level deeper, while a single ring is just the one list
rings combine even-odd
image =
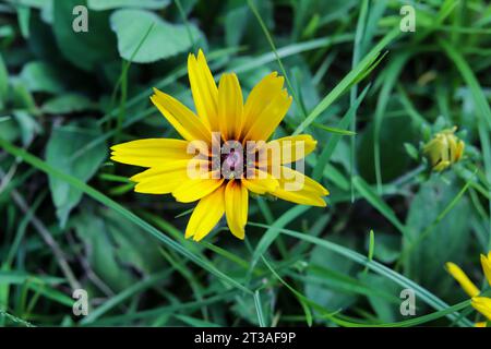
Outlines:
[{"label": "left one of the large flower's two downward-pointing yellow petals", "polygon": [[209,195],[203,197],[189,219],[185,238],[200,241],[217,225],[225,213],[224,188],[220,186]]}]

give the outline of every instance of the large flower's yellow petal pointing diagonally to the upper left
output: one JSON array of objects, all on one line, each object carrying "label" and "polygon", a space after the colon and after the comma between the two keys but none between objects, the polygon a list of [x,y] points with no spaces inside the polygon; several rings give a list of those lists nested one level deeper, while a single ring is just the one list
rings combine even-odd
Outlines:
[{"label": "large flower's yellow petal pointing diagonally to the upper left", "polygon": [[157,88],[154,88],[154,93],[155,95],[151,97],[152,103],[183,139],[211,142],[209,128],[194,112],[176,98]]}]

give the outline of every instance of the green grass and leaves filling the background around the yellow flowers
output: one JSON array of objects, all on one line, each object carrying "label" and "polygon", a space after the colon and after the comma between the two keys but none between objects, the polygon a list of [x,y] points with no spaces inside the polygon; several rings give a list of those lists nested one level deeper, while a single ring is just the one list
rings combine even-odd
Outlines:
[{"label": "green grass and leaves filling the background around the yellow flowers", "polygon": [[[80,4],[87,33],[72,28]],[[490,24],[486,0],[0,1],[0,325],[471,325],[444,263],[484,285]],[[326,208],[258,197],[244,242],[221,224],[194,243],[191,205],[132,192],[137,169],[108,148],[176,135],[151,88],[193,108],[199,48],[244,95],[287,74],[276,136],[306,125],[319,141],[307,172]],[[454,125],[465,156],[432,172],[422,145]]]}]

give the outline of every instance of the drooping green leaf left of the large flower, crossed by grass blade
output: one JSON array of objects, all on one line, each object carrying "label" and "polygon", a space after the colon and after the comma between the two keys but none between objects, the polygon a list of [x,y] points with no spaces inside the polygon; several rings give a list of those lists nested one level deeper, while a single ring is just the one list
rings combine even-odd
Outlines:
[{"label": "drooping green leaf left of the large flower, crossed by grass blade", "polygon": [[[75,151],[100,134],[100,130],[95,127],[93,121],[73,122],[55,129],[48,141],[46,161],[63,172],[86,182],[94,176],[99,165],[106,158],[106,144],[104,142],[99,143],[84,152],[74,161],[70,157]],[[53,176],[49,176],[49,189],[57,208],[57,217],[60,226],[63,227],[70,212],[82,198],[82,192]]]}]

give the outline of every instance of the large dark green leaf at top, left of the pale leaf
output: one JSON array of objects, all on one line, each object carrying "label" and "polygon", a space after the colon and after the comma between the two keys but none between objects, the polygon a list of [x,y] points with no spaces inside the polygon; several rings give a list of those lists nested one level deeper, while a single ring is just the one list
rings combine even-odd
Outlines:
[{"label": "large dark green leaf at top, left of the pale leaf", "polygon": [[[117,58],[116,38],[109,28],[107,12],[88,13],[88,32],[74,32],[72,14],[76,5],[86,5],[85,0],[63,0],[53,3],[55,37],[61,53],[73,65],[91,71]],[[133,21],[128,22],[134,23]]]}]

